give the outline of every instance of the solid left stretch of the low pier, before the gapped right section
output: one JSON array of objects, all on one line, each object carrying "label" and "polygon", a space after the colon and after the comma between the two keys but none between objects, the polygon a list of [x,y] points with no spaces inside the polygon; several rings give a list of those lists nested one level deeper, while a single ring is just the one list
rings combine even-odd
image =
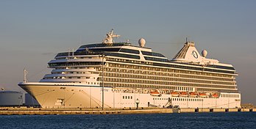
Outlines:
[{"label": "solid left stretch of the low pier, before the gapped right section", "polygon": [[171,114],[175,108],[0,108],[0,115],[47,115],[47,114]]}]

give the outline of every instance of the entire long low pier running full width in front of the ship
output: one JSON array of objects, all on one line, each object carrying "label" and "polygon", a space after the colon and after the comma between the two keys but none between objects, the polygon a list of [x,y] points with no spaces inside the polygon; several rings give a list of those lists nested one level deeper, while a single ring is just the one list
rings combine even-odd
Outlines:
[{"label": "entire long low pier running full width in front of the ship", "polygon": [[0,115],[171,114],[256,111],[256,108],[0,108]]}]

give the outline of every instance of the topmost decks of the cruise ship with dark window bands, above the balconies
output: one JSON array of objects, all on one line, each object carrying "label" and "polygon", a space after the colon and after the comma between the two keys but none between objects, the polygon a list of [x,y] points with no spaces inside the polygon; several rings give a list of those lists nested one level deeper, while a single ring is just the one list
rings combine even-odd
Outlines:
[{"label": "topmost decks of the cruise ship with dark window bands, above the balconies", "polygon": [[[181,51],[177,55],[179,55]],[[196,51],[196,54],[198,52]],[[80,46],[75,52],[65,52],[59,53],[55,56],[57,60],[51,60],[51,63],[56,62],[82,62],[79,58],[80,56],[101,56],[104,54],[105,56],[113,56],[113,58],[126,58],[126,59],[135,59],[142,62],[152,62],[152,65],[159,67],[178,67],[182,69],[191,69],[191,70],[205,70],[212,71],[217,73],[235,73],[234,67],[231,64],[222,64],[218,62],[216,59],[206,59],[200,54],[197,55],[197,59],[195,60],[185,60],[186,56],[183,56],[183,59],[167,59],[163,54],[153,52],[151,48],[143,48],[140,46],[132,45],[131,43],[112,43],[112,44],[88,44]],[[185,55],[185,53],[183,53]],[[192,56],[192,54],[187,54],[188,56]],[[76,57],[76,59],[72,59],[71,57]],[[191,58],[191,57],[189,57]],[[61,61],[60,61],[61,59]],[[201,59],[201,60],[199,60]],[[59,61],[58,61],[59,60]],[[84,59],[85,62],[89,60]],[[92,60],[90,60],[91,62]],[[101,60],[97,61],[100,62]],[[187,62],[185,62],[187,61]],[[209,68],[207,68],[209,67]],[[218,69],[218,70],[213,70]],[[227,70],[227,71],[226,71]]]}]

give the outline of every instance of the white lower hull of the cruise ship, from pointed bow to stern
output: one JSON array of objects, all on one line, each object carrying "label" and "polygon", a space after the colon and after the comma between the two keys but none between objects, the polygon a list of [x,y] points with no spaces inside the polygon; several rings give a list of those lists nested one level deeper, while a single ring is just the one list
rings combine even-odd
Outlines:
[{"label": "white lower hull of the cruise ship, from pointed bow to stern", "polygon": [[[102,87],[56,83],[21,83],[21,88],[38,100],[43,108],[102,108]],[[221,92],[221,94],[224,94]],[[165,107],[179,108],[240,108],[240,93],[226,93],[238,97],[172,97],[148,92],[136,93],[104,87],[104,108]]]}]

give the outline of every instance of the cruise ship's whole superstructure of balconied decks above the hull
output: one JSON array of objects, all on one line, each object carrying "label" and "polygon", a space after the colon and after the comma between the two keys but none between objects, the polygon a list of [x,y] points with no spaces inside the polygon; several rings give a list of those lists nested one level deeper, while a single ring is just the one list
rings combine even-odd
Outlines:
[{"label": "cruise ship's whole superstructure of balconied decks above the hull", "polygon": [[140,46],[110,41],[82,45],[77,51],[57,54],[49,62],[54,70],[41,81],[97,85],[104,71],[105,84],[117,87],[237,91],[237,73],[232,65],[207,59],[205,51],[201,56],[194,43],[185,43],[174,59],[167,59],[145,48],[145,40],[139,42]]}]

